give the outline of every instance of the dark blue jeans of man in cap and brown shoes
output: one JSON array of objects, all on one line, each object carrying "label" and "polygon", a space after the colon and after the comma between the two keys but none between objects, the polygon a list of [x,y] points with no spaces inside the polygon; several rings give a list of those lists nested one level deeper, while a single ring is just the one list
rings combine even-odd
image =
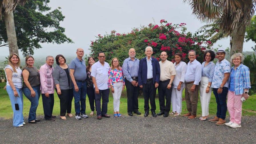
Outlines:
[{"label": "dark blue jeans of man in cap and brown shoes", "polygon": [[221,119],[226,118],[226,113],[227,113],[227,93],[228,93],[228,88],[223,87],[222,88],[222,93],[218,93],[218,88],[213,88],[213,94],[215,95],[216,98],[216,103],[217,103],[217,117]]}]

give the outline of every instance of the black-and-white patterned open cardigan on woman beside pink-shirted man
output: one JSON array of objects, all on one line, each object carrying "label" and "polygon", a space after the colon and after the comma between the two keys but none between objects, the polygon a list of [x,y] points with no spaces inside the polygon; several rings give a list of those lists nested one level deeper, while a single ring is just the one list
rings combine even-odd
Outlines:
[{"label": "black-and-white patterned open cardigan on woman beside pink-shirted man", "polygon": [[[69,65],[67,64],[69,73],[70,73],[70,69],[69,69]],[[54,77],[54,84],[57,85],[59,84],[60,89],[72,89],[72,80],[70,75],[69,76],[69,82],[68,82],[68,77],[67,77],[67,73],[64,69],[62,69],[59,65],[57,65],[53,71],[53,77]],[[70,84],[70,85],[69,85]]]}]

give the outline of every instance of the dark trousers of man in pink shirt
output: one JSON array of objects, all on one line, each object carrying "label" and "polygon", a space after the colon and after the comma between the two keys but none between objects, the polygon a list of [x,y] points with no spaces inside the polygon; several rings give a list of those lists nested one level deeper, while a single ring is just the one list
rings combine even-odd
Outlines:
[{"label": "dark trousers of man in pink shirt", "polygon": [[43,101],[43,113],[45,115],[45,119],[49,119],[53,114],[54,95],[49,94],[49,97],[46,97],[45,94],[42,93],[42,101]]}]

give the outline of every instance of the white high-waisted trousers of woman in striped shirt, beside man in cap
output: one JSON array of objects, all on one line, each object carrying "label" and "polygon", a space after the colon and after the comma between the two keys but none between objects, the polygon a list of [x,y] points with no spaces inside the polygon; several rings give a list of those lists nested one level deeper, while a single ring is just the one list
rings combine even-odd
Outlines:
[{"label": "white high-waisted trousers of woman in striped shirt, beside man in cap", "polygon": [[208,86],[208,77],[201,78],[200,84],[200,101],[201,101],[201,108],[202,108],[202,117],[209,115],[209,103],[211,100],[211,90],[210,87],[209,93],[206,93],[206,88]]}]

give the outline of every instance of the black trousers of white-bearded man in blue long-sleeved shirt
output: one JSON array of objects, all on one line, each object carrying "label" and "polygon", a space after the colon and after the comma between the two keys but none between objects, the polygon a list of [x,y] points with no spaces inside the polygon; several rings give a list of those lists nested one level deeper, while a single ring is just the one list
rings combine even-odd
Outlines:
[{"label": "black trousers of white-bearded man in blue long-sleeved shirt", "polygon": [[[135,81],[138,81],[138,79],[134,79]],[[125,79],[125,86],[126,86],[126,92],[127,92],[127,111],[128,113],[136,113],[139,109],[138,104],[138,96],[139,96],[139,86],[135,87],[129,82],[127,79]]]}]

